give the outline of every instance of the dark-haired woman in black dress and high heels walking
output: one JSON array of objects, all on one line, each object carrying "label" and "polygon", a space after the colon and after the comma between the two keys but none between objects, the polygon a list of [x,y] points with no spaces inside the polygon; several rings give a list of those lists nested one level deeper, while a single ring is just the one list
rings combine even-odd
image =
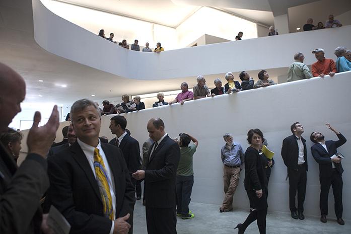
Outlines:
[{"label": "dark-haired woman in black dress and high heels walking", "polygon": [[250,214],[244,223],[239,223],[235,228],[239,234],[257,219],[260,234],[266,233],[267,198],[265,190],[267,177],[262,166],[259,150],[262,147],[263,133],[259,129],[250,129],[247,133],[247,142],[250,146],[245,152],[245,179],[244,186],[250,201]]}]

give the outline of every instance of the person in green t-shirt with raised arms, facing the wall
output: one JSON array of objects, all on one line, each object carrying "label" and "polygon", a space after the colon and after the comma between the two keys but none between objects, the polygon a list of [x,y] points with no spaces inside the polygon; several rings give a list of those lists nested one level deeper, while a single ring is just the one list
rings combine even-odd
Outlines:
[{"label": "person in green t-shirt with raised arms, facing the wall", "polygon": [[[189,146],[190,141],[194,142]],[[192,170],[192,156],[196,151],[198,141],[186,133],[179,134],[180,160],[177,169],[177,216],[182,219],[193,218],[194,214],[189,211],[190,195],[194,184],[194,172]]]}]

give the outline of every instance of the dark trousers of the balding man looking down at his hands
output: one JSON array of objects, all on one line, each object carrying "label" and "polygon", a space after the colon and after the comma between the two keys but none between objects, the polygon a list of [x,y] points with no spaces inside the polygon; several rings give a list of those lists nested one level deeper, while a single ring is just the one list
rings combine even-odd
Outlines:
[{"label": "dark trousers of the balding man looking down at his hands", "polygon": [[148,234],[177,234],[175,207],[151,208],[147,203],[145,210]]}]

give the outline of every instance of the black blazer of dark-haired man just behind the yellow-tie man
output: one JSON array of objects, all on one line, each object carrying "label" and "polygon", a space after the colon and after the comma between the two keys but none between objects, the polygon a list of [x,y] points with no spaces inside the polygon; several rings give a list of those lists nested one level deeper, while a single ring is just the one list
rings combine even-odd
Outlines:
[{"label": "black blazer of dark-haired man just behind the yellow-tie man", "polygon": [[[110,144],[115,145],[116,138],[117,137],[110,140]],[[139,170],[141,166],[139,142],[128,134],[125,134],[122,141],[119,142],[118,147],[123,152],[123,157],[127,164],[129,173],[134,173]]]}]

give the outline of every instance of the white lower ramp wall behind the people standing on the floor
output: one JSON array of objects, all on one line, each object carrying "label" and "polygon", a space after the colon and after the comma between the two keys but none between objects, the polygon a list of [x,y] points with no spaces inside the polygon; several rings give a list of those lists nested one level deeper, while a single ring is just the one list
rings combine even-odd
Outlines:
[{"label": "white lower ramp wall behind the people standing on the floor", "polygon": [[[170,137],[180,132],[188,132],[199,140],[194,154],[194,187],[192,201],[218,204],[222,203],[223,165],[220,149],[225,144],[222,136],[226,132],[233,134],[235,141],[244,149],[248,147],[246,134],[250,128],[259,128],[268,141],[268,148],[275,152],[275,165],[269,182],[269,211],[289,212],[289,183],[285,180],[286,167],[280,156],[282,141],[291,135],[290,125],[300,121],[305,128],[303,137],[307,140],[309,172],[307,174],[307,192],[305,214],[316,215],[319,212],[319,171],[314,161],[309,136],[312,131],[321,131],[326,139],[336,139],[333,132],[325,127],[330,123],[338,129],[348,141],[338,150],[345,155],[343,160],[343,208],[345,219],[351,219],[351,71],[326,76],[324,79],[312,78],[298,82],[284,83],[257,90],[243,91],[231,95],[221,95],[146,109],[124,114],[127,128],[140,145],[148,138],[147,122],[152,117],[160,117],[165,122],[166,132]],[[108,126],[113,115],[102,117],[100,136],[112,139]],[[67,122],[62,122],[62,126]],[[61,130],[57,136],[60,136]],[[26,142],[28,131],[24,131]],[[23,150],[26,151],[23,144]],[[23,154],[24,155],[24,154]],[[20,161],[23,160],[21,154]],[[244,171],[234,195],[234,207],[248,209],[249,202],[243,186]],[[191,207],[191,203],[190,203]],[[333,197],[329,194],[329,217],[333,217]]]}]

